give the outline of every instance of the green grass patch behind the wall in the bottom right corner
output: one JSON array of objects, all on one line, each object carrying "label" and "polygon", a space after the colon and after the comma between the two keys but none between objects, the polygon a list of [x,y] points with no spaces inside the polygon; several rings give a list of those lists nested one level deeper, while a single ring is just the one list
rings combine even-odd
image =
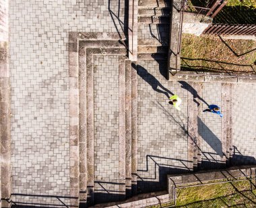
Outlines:
[{"label": "green grass patch behind the wall in the bottom right corner", "polygon": [[177,207],[256,206],[249,180],[177,189]]}]

